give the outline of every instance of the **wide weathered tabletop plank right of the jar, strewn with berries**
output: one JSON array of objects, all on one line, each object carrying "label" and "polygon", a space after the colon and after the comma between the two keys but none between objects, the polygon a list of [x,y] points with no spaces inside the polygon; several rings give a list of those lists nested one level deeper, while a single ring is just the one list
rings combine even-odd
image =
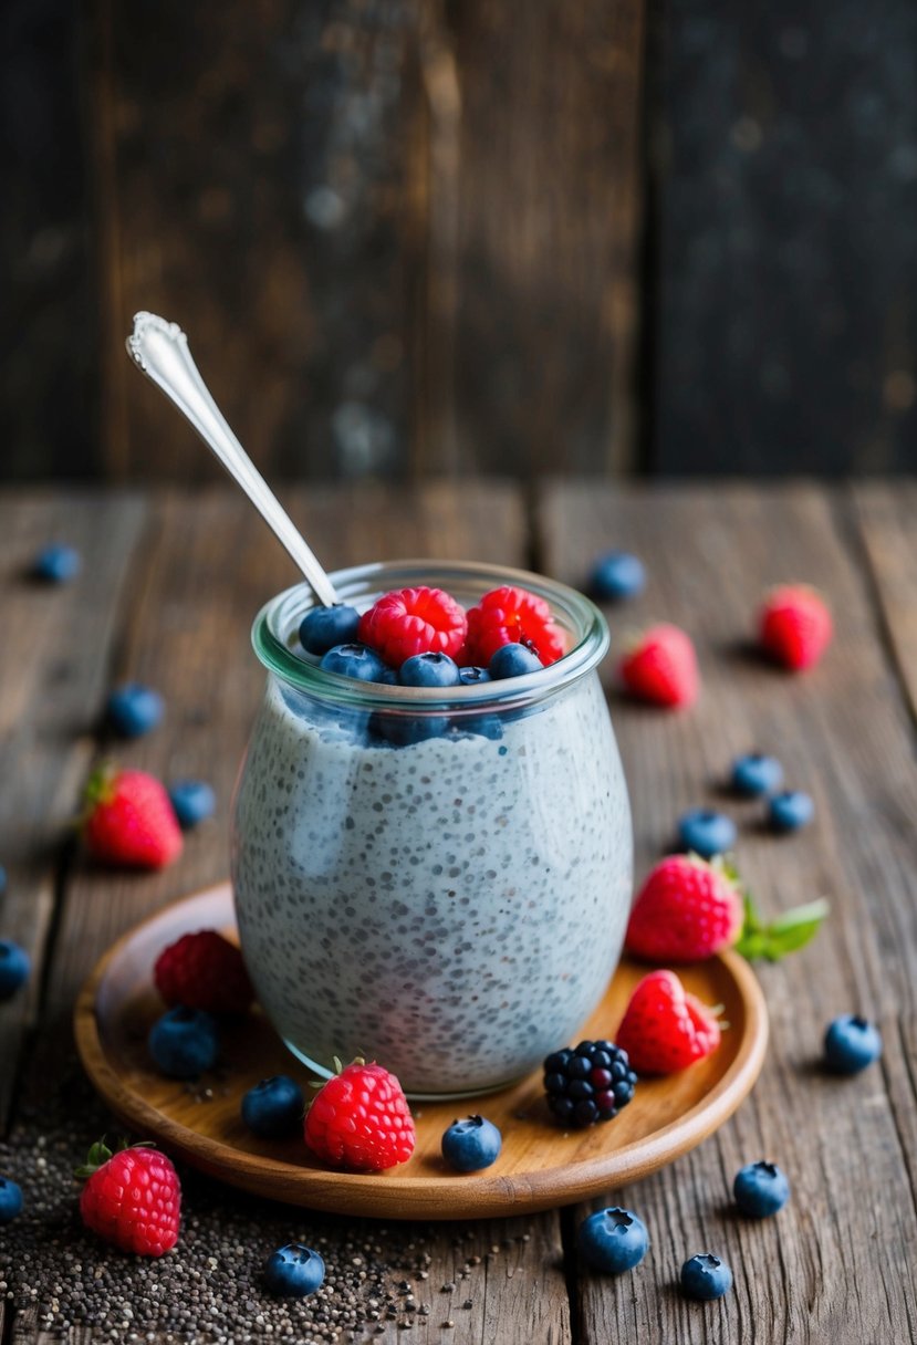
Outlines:
[{"label": "wide weathered tabletop plank right of the jar, strewn with berries", "polygon": [[[609,1193],[608,1202],[641,1213],[652,1248],[624,1282],[581,1275],[582,1340],[625,1330],[684,1342],[753,1332],[785,1341],[908,1340],[917,1219],[904,1056],[913,1046],[917,974],[917,780],[910,725],[847,521],[813,488],[640,492],[584,483],[549,491],[542,530],[549,572],[573,582],[602,547],[628,547],[647,562],[645,594],[609,612],[613,650],[649,619],[678,621],[698,647],[705,689],[694,710],[668,714],[613,694],[637,876],[671,846],[678,815],[709,803],[740,823],[737,858],[765,911],[819,894],[832,904],[816,944],[760,968],[772,1048],[752,1099],[694,1154]],[[742,644],[760,593],[780,580],[818,584],[834,607],[836,640],[805,677],[766,667]],[[606,675],[610,683],[610,660]],[[773,838],[760,804],[722,792],[731,759],[754,746],[777,755],[788,784],[815,796],[809,831]],[[846,1010],[878,1021],[887,1044],[883,1067],[855,1083],[818,1068],[824,1024]],[[792,1204],[764,1224],[729,1208],[734,1173],[757,1158],[779,1162],[793,1185]],[[699,1309],[675,1283],[682,1260],[706,1250],[730,1262],[735,1290]]]}]

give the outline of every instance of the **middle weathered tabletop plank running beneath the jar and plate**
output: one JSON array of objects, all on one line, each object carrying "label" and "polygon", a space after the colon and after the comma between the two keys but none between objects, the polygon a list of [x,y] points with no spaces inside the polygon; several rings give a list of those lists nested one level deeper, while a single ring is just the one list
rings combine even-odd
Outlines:
[{"label": "middle weathered tabletop plank running beneath the jar and plate", "polygon": [[[397,494],[379,488],[293,492],[292,512],[329,568],[395,557],[436,554],[519,564],[526,527],[519,498],[499,483],[454,491],[434,484]],[[151,508],[144,550],[118,612],[118,652],[113,681],[133,677],[157,686],[168,714],[147,738],[118,746],[117,759],[168,779],[200,773],[216,787],[214,823],[188,838],[187,851],[159,876],[99,873],[81,865],[67,885],[48,989],[46,1052],[31,1073],[27,1100],[47,1088],[50,1054],[69,1033],[74,993],[104,948],[147,911],[223,877],[227,868],[226,816],[230,788],[260,698],[262,671],[249,648],[250,620],[273,592],[290,582],[289,562],[264,525],[235,494],[164,495]],[[202,1182],[194,1178],[195,1186]],[[223,1198],[215,1190],[208,1208]],[[239,1197],[233,1193],[233,1202]],[[188,1201],[194,1213],[194,1196]],[[255,1202],[251,1202],[251,1209]],[[273,1209],[272,1217],[276,1219]],[[202,1213],[216,1220],[216,1215]],[[344,1245],[339,1220],[292,1212],[297,1236],[320,1236]],[[413,1239],[422,1248],[426,1280],[397,1262],[394,1248]],[[458,1227],[402,1227],[391,1236],[391,1278],[409,1275],[417,1303],[432,1311],[422,1338],[472,1345],[500,1340],[527,1345],[531,1322],[545,1340],[565,1345],[570,1318],[557,1212],[508,1223]],[[497,1251],[493,1254],[492,1247]],[[452,1294],[441,1286],[454,1283]],[[471,1307],[464,1302],[471,1301]],[[44,1305],[39,1305],[44,1306]],[[39,1321],[36,1318],[36,1321]],[[405,1311],[383,1318],[374,1340],[403,1341]],[[441,1323],[453,1319],[454,1326]],[[16,1326],[16,1345],[35,1345],[32,1318]],[[86,1338],[101,1338],[101,1330]]]}]

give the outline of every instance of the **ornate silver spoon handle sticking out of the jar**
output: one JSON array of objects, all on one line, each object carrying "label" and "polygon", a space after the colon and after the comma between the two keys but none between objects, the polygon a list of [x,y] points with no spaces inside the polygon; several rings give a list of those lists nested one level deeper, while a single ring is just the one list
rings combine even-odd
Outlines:
[{"label": "ornate silver spoon handle sticking out of the jar", "polygon": [[333,585],[312,549],[294,527],[266,480],[245,452],[188,350],[188,338],[177,323],[167,323],[156,313],[136,313],[133,334],[128,336],[128,354],[140,370],[175,402],[203,438],[207,448],[223,464],[272,527],[312,585],[324,607],[339,601]]}]

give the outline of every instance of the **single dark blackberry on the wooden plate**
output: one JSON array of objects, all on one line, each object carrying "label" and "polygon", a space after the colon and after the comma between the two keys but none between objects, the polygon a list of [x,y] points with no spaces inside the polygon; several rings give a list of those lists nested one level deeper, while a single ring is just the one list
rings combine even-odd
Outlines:
[{"label": "single dark blackberry on the wooden plate", "polygon": [[636,1083],[627,1050],[613,1041],[581,1041],[545,1061],[547,1106],[563,1126],[612,1120],[633,1098]]}]

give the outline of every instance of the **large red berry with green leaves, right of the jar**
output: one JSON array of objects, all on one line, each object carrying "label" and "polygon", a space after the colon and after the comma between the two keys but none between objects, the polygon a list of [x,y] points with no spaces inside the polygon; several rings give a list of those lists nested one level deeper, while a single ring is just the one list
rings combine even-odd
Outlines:
[{"label": "large red berry with green leaves, right of the jar", "polygon": [[722,861],[670,854],[637,893],[625,944],[649,962],[698,962],[735,943],[744,915],[737,876]]}]

